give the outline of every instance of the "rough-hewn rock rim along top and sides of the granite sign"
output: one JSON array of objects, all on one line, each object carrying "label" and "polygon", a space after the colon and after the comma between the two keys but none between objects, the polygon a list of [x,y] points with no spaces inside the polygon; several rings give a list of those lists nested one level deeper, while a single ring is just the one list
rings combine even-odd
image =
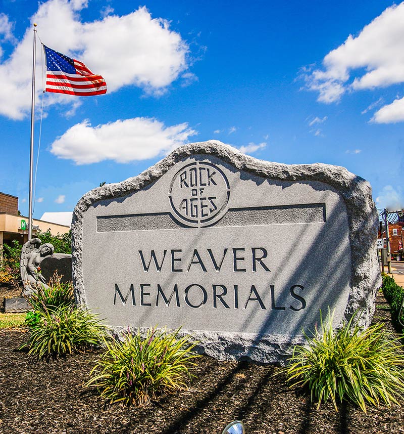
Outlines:
[{"label": "rough-hewn rock rim along top and sides of the granite sign", "polygon": [[[374,299],[381,285],[376,255],[378,215],[372,200],[370,184],[341,166],[323,163],[289,165],[258,160],[214,140],[181,146],[140,175],[120,183],[107,184],[90,190],[79,200],[73,211],[72,219],[72,269],[77,305],[86,305],[81,267],[85,212],[97,201],[122,197],[141,190],[162,177],[174,164],[193,154],[212,155],[238,170],[271,180],[319,181],[333,187],[345,201],[351,246],[351,289],[342,321],[348,321],[359,310],[362,312],[359,319],[360,325],[363,327],[370,325],[375,310]],[[254,357],[251,358],[256,360]]]}]

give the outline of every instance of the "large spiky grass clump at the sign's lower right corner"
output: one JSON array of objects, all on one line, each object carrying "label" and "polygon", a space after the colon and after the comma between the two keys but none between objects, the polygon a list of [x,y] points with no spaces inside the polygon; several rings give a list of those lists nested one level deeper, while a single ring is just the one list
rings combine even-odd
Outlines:
[{"label": "large spiky grass clump at the sign's lower right corner", "polygon": [[331,398],[349,400],[366,412],[366,405],[400,404],[404,397],[404,358],[397,339],[376,324],[361,330],[352,327],[356,315],[333,331],[332,316],[320,330],[306,338],[308,347],[296,346],[284,371],[293,385],[308,386],[317,408]]}]

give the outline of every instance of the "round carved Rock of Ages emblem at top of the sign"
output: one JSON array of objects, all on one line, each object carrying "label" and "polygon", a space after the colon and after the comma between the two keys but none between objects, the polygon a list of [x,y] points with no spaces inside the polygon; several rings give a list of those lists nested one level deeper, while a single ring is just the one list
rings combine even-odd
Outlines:
[{"label": "round carved Rock of Ages emblem at top of the sign", "polygon": [[190,227],[206,227],[219,221],[227,211],[230,186],[216,165],[196,161],[174,175],[169,199],[174,217]]}]

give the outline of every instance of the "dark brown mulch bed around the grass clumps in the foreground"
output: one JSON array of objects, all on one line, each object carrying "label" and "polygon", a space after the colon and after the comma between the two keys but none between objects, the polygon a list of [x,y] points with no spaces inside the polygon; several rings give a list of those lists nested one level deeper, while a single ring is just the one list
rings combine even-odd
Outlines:
[{"label": "dark brown mulch bed around the grass clumps in the foreground", "polygon": [[[0,301],[2,301],[0,299]],[[374,321],[391,329],[387,302],[377,297]],[[19,351],[23,330],[0,331],[0,433],[218,433],[234,419],[246,434],[404,433],[404,410],[343,404],[319,410],[278,368],[248,362],[198,360],[191,389],[147,408],[106,406],[83,389],[97,352],[36,360]]]}]

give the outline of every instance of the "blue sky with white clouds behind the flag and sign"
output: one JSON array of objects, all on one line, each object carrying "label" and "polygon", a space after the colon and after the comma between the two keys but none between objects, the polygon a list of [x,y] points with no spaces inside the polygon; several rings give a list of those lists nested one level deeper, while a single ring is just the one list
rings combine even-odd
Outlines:
[{"label": "blue sky with white clouds behind the flag and sign", "polygon": [[72,211],[185,143],[322,162],[404,203],[404,3],[0,0],[0,191],[28,214],[32,23],[103,75],[97,97],[42,95],[38,39],[34,218]]}]

